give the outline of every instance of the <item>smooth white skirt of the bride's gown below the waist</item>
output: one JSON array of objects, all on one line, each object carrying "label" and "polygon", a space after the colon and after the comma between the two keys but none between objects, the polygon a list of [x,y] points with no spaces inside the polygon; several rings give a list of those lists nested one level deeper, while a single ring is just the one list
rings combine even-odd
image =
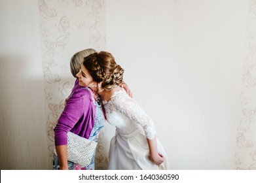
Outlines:
[{"label": "smooth white skirt of the bride's gown below the waist", "polygon": [[147,139],[140,131],[136,135],[124,137],[118,132],[111,139],[109,149],[109,170],[164,170],[169,169],[168,158],[162,144],[157,139],[158,152],[164,156],[161,165],[155,165],[149,159]]}]

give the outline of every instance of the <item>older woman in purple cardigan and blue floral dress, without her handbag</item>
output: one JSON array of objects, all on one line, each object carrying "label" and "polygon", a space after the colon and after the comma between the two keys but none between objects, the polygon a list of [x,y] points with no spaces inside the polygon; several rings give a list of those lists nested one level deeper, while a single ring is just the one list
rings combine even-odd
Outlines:
[{"label": "older woman in purple cardigan and blue floral dress, without her handbag", "polygon": [[[94,52],[96,52],[94,49],[82,50],[71,58],[70,65],[73,76],[79,73],[84,58]],[[90,165],[86,167],[67,161],[67,132],[71,131],[81,137],[97,142],[98,133],[105,122],[103,108],[101,108],[98,101],[98,95],[94,90],[86,86],[80,86],[78,80],[75,80],[75,86],[54,128],[57,154],[54,154],[53,169],[95,168],[94,157]]]}]

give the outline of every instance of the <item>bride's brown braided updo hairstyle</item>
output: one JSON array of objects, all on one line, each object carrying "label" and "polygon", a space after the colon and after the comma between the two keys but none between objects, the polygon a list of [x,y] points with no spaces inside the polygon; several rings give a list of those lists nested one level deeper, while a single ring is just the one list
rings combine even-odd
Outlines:
[{"label": "bride's brown braided updo hairstyle", "polygon": [[94,81],[102,82],[102,89],[111,90],[122,84],[124,69],[115,62],[111,53],[102,51],[90,54],[82,64]]}]

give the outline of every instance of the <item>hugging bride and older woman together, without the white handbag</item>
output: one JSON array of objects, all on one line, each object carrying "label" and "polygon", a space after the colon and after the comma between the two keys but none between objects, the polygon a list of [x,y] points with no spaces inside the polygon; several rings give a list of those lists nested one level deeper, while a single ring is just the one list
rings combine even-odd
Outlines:
[{"label": "hugging bride and older woman together, without the white handbag", "polygon": [[77,80],[54,128],[53,169],[94,169],[94,157],[86,167],[68,161],[67,132],[97,142],[105,120],[116,127],[108,169],[169,169],[154,122],[132,99],[123,82],[124,69],[115,58],[109,52],[86,49],[77,52],[70,65]]}]

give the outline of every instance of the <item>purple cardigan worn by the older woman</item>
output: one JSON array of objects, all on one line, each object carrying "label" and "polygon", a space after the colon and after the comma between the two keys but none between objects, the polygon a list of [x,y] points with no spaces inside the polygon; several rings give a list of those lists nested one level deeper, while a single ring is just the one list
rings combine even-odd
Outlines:
[{"label": "purple cardigan worn by the older woman", "polygon": [[95,113],[96,105],[92,101],[92,94],[87,88],[79,86],[77,79],[54,127],[55,145],[66,145],[69,131],[88,139],[94,127]]}]

